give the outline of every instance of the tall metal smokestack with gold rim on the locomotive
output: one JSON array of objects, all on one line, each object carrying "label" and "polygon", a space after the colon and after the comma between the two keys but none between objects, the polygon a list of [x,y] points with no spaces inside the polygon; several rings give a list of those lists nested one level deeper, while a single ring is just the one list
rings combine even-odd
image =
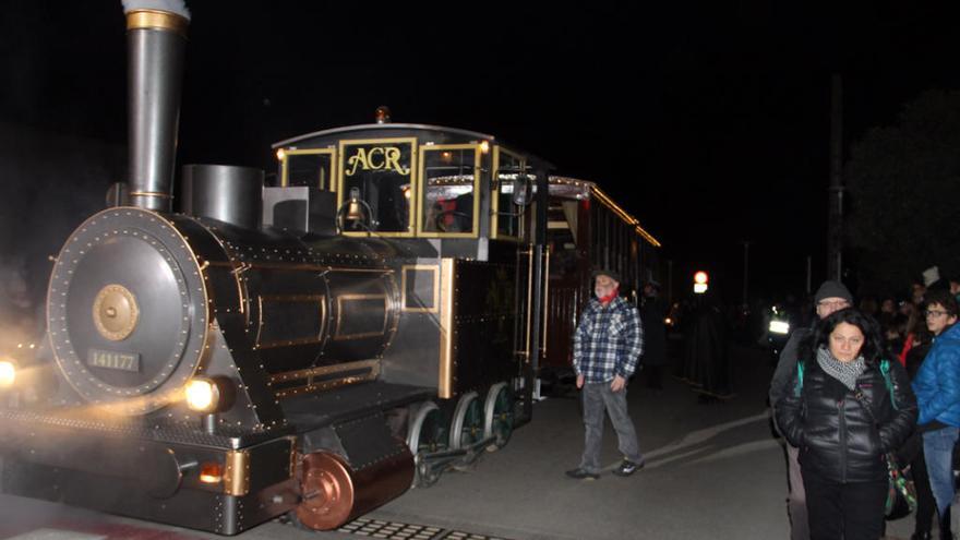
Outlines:
[{"label": "tall metal smokestack with gold rim on the locomotive", "polygon": [[130,204],[170,212],[190,13],[182,2],[124,1]]}]

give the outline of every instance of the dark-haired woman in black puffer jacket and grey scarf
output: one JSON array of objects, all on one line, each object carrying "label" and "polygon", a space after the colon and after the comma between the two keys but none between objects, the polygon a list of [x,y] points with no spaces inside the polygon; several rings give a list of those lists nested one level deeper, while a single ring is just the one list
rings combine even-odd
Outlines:
[{"label": "dark-haired woman in black puffer jacket and grey scarf", "polygon": [[[800,448],[813,540],[883,533],[884,454],[899,448],[916,424],[907,372],[885,358],[873,319],[852,308],[837,311],[801,346],[795,391],[776,407],[778,425]],[[873,415],[855,397],[857,388]]]}]

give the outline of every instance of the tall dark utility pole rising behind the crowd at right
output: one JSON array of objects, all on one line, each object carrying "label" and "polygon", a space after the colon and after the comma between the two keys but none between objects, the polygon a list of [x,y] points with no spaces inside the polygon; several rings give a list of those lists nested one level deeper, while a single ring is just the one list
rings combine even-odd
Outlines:
[{"label": "tall dark utility pole rising behind the crowd at right", "polygon": [[840,280],[843,273],[843,81],[835,73],[831,82],[827,278]]}]

